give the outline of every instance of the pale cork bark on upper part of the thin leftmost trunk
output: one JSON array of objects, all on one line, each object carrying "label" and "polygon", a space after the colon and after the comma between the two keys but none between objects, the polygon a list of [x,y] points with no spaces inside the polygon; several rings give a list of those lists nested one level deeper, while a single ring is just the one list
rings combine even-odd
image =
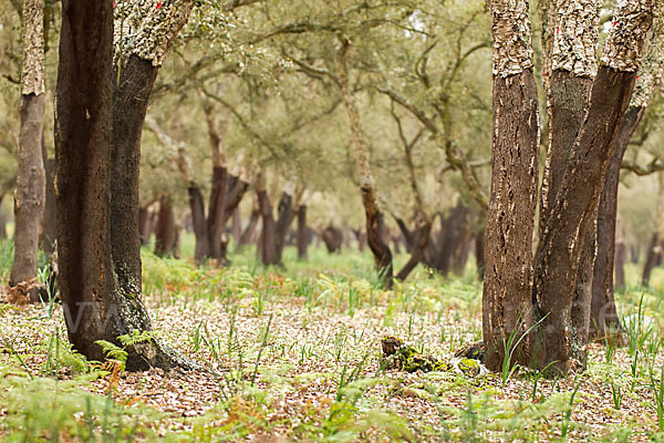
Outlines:
[{"label": "pale cork bark on upper part of the thin leftmost trunk", "polygon": [[22,39],[23,69],[21,72],[21,94],[44,93],[44,2],[25,0],[23,4]]}]

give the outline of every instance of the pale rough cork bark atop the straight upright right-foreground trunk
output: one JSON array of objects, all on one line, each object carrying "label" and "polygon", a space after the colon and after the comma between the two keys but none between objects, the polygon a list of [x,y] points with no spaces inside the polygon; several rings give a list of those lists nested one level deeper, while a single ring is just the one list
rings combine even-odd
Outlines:
[{"label": "pale rough cork bark atop the straight upright right-foreground trunk", "polygon": [[527,0],[491,0],[494,75],[507,78],[532,68],[530,14]]}]

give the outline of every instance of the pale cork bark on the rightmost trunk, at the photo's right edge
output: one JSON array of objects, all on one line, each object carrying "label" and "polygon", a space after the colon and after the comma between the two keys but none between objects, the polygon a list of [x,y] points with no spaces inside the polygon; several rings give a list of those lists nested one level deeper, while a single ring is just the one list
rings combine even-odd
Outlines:
[{"label": "pale cork bark on the rightmost trunk, at the photo's right edge", "polygon": [[639,70],[639,76],[636,78],[636,84],[634,92],[632,93],[632,101],[630,106],[634,107],[646,107],[655,92],[658,84],[662,83],[662,76],[664,75],[664,14],[660,11],[660,14],[653,22],[653,30],[650,38],[645,55],[641,69]]}]

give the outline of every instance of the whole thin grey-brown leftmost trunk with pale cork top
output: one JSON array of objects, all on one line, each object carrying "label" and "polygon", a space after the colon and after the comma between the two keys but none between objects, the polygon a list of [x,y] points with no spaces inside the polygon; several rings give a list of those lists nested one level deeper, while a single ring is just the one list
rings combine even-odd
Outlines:
[{"label": "whole thin grey-brown leftmost trunk with pale cork top", "polygon": [[42,159],[44,120],[43,1],[25,0],[22,13],[21,134],[14,192],[14,259],[9,285],[37,277],[39,229],[44,210]]}]

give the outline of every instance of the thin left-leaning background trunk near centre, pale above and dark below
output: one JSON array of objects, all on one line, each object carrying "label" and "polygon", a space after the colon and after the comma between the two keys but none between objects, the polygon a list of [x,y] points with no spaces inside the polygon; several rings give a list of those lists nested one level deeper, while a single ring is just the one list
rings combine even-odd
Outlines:
[{"label": "thin left-leaning background trunk near centre, pale above and dark below", "polygon": [[349,73],[346,66],[346,53],[350,41],[344,37],[339,37],[340,48],[336,51],[336,64],[339,70],[338,85],[341,90],[342,100],[351,124],[353,135],[353,146],[355,151],[355,163],[357,175],[360,176],[360,190],[362,193],[362,204],[366,216],[366,240],[369,248],[373,253],[376,268],[381,279],[385,285],[392,287],[392,251],[390,246],[383,240],[384,216],[378,206],[375,193],[374,179],[369,163],[369,154],[364,131],[360,123],[360,115],[349,87]]}]

